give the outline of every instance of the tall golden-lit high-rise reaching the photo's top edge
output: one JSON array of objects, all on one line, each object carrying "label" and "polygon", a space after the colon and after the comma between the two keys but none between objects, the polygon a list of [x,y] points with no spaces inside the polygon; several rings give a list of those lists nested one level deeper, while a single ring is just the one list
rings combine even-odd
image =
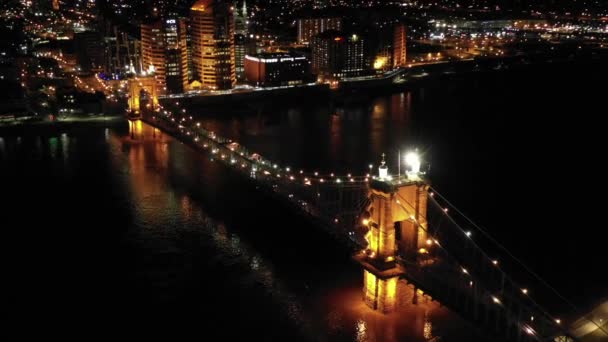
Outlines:
[{"label": "tall golden-lit high-rise reaching the photo's top edge", "polygon": [[190,9],[192,64],[203,87],[231,89],[236,83],[232,11],[224,0],[199,0]]}]

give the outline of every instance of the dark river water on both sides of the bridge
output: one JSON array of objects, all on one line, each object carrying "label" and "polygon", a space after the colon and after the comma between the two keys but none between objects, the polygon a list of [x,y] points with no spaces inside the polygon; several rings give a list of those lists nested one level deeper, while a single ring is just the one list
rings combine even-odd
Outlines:
[{"label": "dark river water on both sides of the bridge", "polygon": [[[584,308],[608,295],[607,70],[548,65],[353,104],[310,99],[200,121],[309,171],[362,174],[382,153],[394,170],[397,151],[417,147],[439,191]],[[141,123],[134,129],[0,132],[5,279],[26,329],[202,340],[477,338],[436,303],[389,316],[368,310],[348,250],[208,156]]]}]

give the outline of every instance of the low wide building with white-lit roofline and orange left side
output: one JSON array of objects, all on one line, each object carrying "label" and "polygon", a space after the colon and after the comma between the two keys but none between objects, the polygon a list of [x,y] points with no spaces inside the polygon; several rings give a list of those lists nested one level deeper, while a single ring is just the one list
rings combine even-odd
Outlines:
[{"label": "low wide building with white-lit roofline and orange left side", "polygon": [[303,84],[311,79],[310,63],[295,53],[261,53],[245,57],[245,77],[258,86]]}]

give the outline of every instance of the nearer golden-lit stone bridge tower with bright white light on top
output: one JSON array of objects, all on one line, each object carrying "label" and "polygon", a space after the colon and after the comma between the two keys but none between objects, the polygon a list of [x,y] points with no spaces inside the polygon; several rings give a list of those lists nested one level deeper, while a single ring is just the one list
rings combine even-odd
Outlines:
[{"label": "nearer golden-lit stone bridge tower with bright white light on top", "polygon": [[[417,158],[416,158],[417,161]],[[420,163],[406,176],[391,177],[384,161],[370,182],[366,235],[368,247],[355,258],[363,271],[363,299],[372,309],[394,311],[399,302],[398,280],[407,272],[396,257],[415,261],[425,253],[426,203],[429,186],[419,177]]]}]

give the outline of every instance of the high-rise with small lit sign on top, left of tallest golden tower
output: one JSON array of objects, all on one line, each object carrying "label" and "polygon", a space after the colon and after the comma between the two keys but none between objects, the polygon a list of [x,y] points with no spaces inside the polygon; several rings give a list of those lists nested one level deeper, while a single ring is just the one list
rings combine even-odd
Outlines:
[{"label": "high-rise with small lit sign on top, left of tallest golden tower", "polygon": [[184,19],[162,19],[141,26],[144,71],[154,73],[160,93],[188,88],[188,52]]}]

